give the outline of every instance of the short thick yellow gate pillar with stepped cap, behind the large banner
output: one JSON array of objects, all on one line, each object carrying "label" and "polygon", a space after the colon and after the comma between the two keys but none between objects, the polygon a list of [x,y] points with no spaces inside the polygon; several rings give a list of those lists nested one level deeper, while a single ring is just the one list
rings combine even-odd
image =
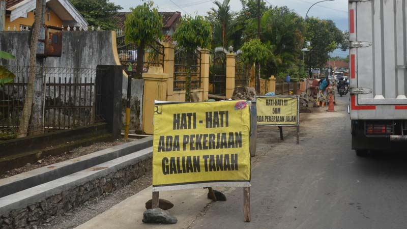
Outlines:
[{"label": "short thick yellow gate pillar with stepped cap, behind the large banner", "polygon": [[149,72],[143,73],[143,79],[142,130],[146,134],[153,134],[154,100],[166,101],[168,74],[163,73],[162,67],[150,67]]}]

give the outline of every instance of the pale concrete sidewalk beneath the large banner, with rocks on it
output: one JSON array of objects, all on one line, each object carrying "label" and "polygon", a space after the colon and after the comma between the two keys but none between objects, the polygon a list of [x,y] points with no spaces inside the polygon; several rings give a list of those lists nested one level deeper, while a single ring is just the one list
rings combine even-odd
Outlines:
[{"label": "pale concrete sidewalk beneath the large banner, with rocks on it", "polygon": [[[227,197],[227,193],[231,193],[236,188],[216,189],[225,193]],[[207,193],[208,190],[203,188],[160,192],[160,198],[167,199],[174,204],[174,207],[168,211],[171,215],[177,217],[177,224],[147,224],[141,221],[143,218],[143,212],[146,211],[145,203],[151,199],[152,196],[152,187],[150,186],[76,228],[185,228],[193,224],[201,211],[212,202],[207,198]],[[217,202],[216,204],[227,204],[227,201]],[[243,210],[237,210],[237,213],[239,211],[242,212],[241,214],[243,217]]]}]

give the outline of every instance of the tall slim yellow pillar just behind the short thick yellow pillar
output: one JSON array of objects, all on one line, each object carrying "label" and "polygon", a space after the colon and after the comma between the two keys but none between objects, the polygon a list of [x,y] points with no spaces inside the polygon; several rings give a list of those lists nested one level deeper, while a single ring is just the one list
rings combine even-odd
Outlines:
[{"label": "tall slim yellow pillar just behind the short thick yellow pillar", "polygon": [[166,101],[172,101],[172,95],[174,94],[175,45],[169,42],[163,42],[163,45],[164,45],[164,73],[168,74]]}]

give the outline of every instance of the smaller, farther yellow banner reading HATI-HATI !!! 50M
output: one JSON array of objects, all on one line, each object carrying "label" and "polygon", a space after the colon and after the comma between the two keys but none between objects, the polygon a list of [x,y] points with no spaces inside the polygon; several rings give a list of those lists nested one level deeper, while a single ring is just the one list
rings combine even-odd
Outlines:
[{"label": "smaller, farther yellow banner reading HATI-HATI !!! 50M", "polygon": [[298,96],[256,97],[257,125],[297,126],[299,125]]}]

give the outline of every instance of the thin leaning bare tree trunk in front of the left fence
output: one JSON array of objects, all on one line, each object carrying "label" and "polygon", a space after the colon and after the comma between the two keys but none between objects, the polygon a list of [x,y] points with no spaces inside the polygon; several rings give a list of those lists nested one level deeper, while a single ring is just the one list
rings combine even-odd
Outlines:
[{"label": "thin leaning bare tree trunk in front of the left fence", "polygon": [[18,127],[17,137],[25,137],[28,133],[28,125],[30,124],[31,113],[33,109],[33,94],[35,74],[37,72],[37,45],[40,32],[41,17],[43,12],[43,4],[45,0],[37,0],[36,2],[36,14],[33,26],[33,33],[30,41],[30,72],[28,73],[27,91],[24,99],[24,107],[22,111],[22,119]]}]

